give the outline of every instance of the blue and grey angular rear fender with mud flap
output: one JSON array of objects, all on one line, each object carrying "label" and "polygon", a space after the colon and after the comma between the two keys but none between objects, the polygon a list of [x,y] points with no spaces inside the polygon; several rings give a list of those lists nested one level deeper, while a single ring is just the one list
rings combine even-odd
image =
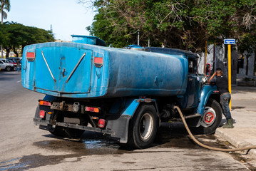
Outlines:
[{"label": "blue and grey angular rear fender with mud flap", "polygon": [[[130,119],[133,118],[133,115],[138,109],[140,103],[154,103],[158,113],[158,108],[154,99],[148,99],[148,98],[147,100],[145,98],[126,99],[124,103],[125,103],[124,105],[125,107],[123,108],[121,113],[118,115],[118,117],[116,116],[108,117],[108,124],[106,126],[106,129],[110,129],[110,130],[113,130],[113,132],[115,132],[115,135],[111,135],[111,137],[120,139],[119,141],[121,143],[128,142],[128,130],[129,130]],[[116,108],[116,111],[118,111],[117,108]]]}]

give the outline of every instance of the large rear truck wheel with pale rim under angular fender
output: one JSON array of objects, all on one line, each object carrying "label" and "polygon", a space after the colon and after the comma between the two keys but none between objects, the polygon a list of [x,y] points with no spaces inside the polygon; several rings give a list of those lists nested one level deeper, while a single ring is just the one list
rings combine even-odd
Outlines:
[{"label": "large rear truck wheel with pale rim under angular fender", "polygon": [[148,147],[158,131],[159,119],[154,105],[140,105],[130,120],[128,145],[133,148]]}]

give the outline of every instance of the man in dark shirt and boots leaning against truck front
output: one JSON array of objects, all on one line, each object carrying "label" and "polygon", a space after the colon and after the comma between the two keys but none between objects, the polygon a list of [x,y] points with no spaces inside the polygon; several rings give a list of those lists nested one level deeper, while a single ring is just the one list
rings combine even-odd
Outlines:
[{"label": "man in dark shirt and boots leaning against truck front", "polygon": [[208,83],[211,82],[214,82],[217,89],[220,91],[220,103],[222,105],[225,118],[227,119],[227,123],[222,128],[234,128],[229,106],[231,95],[228,90],[227,78],[222,76],[221,68],[217,68],[216,72],[213,73],[213,76],[211,76]]}]

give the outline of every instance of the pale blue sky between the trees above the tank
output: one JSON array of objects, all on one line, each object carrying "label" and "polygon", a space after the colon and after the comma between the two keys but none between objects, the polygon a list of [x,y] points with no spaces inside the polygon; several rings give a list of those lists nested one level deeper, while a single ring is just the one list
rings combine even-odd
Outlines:
[{"label": "pale blue sky between the trees above the tank", "polygon": [[11,10],[5,21],[50,30],[54,38],[71,41],[71,34],[89,35],[93,11],[78,0],[10,0]]}]

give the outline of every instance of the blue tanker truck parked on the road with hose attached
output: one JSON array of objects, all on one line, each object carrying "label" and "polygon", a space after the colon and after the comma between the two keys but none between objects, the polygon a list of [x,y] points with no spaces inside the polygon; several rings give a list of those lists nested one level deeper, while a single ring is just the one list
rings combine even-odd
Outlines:
[{"label": "blue tanker truck parked on the road with hose attached", "polygon": [[68,138],[93,131],[145,148],[160,123],[180,119],[174,106],[197,133],[214,133],[220,125],[220,94],[198,74],[196,53],[111,48],[95,36],[72,37],[24,48],[22,85],[46,94],[34,117],[39,128]]}]

